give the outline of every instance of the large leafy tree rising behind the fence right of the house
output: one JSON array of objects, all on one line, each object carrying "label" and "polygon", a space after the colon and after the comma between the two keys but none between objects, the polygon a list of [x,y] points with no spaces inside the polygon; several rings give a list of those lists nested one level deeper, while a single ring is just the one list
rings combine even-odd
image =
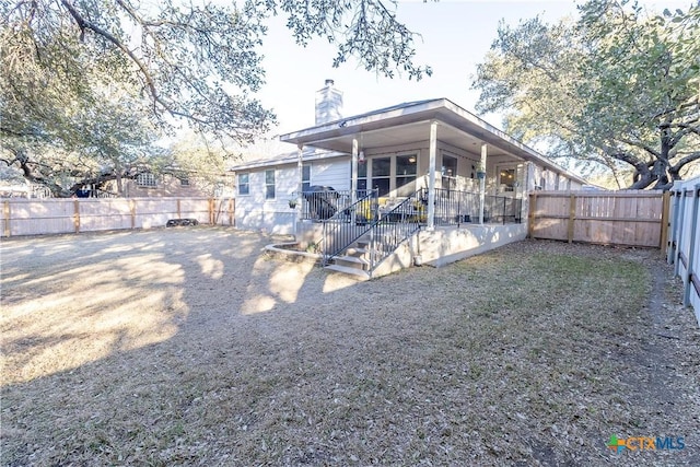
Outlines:
[{"label": "large leafy tree rising behind the fence right of the house", "polygon": [[630,188],[667,189],[700,160],[700,5],[645,15],[592,0],[576,23],[501,25],[474,87],[480,110],[546,142],[555,157],[633,170]]}]

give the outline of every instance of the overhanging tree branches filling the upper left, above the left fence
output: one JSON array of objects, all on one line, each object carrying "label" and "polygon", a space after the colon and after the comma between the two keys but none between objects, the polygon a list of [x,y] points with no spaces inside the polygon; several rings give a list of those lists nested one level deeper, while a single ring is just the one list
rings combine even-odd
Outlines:
[{"label": "overhanging tree branches filling the upper left, above the left fence", "polygon": [[[396,69],[416,79],[430,74],[429,67],[413,65],[416,35],[387,4],[3,1],[0,157],[55,195],[68,196],[73,187],[58,183],[59,175],[74,185],[93,179],[91,174],[119,179],[127,174],[119,160],[125,148],[150,151],[150,131],[147,138],[135,125],[172,131],[185,122],[220,141],[253,141],[275,121],[254,95],[265,79],[257,48],[266,20],[276,14],[288,16],[302,45],[314,36],[337,44],[335,66],[355,57],[389,77]],[[107,104],[115,89],[129,108],[125,102]],[[113,164],[105,167],[108,160]]]}]

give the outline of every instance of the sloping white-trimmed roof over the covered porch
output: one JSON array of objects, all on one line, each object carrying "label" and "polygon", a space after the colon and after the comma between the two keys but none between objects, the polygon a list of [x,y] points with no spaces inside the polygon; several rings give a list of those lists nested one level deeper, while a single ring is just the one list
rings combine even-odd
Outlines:
[{"label": "sloping white-trimmed roof over the covered porch", "polygon": [[509,155],[536,162],[582,184],[587,183],[447,98],[409,102],[342,118],[282,135],[280,141],[349,153],[355,138],[361,140],[363,148],[424,141],[431,121],[439,122],[438,139],[453,147],[478,154],[480,144],[486,142],[489,156]]}]

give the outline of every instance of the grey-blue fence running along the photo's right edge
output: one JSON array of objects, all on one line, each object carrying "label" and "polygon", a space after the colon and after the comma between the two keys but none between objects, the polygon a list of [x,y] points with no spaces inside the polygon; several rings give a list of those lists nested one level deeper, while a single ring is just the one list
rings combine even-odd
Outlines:
[{"label": "grey-blue fence running along the photo's right edge", "polygon": [[700,325],[700,177],[674,184],[667,260],[682,279],[682,303]]}]

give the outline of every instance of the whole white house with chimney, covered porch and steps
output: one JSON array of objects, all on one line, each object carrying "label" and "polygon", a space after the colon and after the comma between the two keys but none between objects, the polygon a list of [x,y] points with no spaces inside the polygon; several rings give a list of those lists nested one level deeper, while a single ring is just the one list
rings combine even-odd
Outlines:
[{"label": "whole white house with chimney, covered porch and steps", "polygon": [[390,249],[386,238],[395,237],[397,249],[376,264],[349,260],[381,275],[522,240],[530,191],[586,184],[447,98],[351,117],[341,107],[342,93],[327,80],[316,125],[280,137],[296,151],[233,167],[238,227],[294,233],[322,245],[329,261],[349,248],[366,252],[358,238]]}]

